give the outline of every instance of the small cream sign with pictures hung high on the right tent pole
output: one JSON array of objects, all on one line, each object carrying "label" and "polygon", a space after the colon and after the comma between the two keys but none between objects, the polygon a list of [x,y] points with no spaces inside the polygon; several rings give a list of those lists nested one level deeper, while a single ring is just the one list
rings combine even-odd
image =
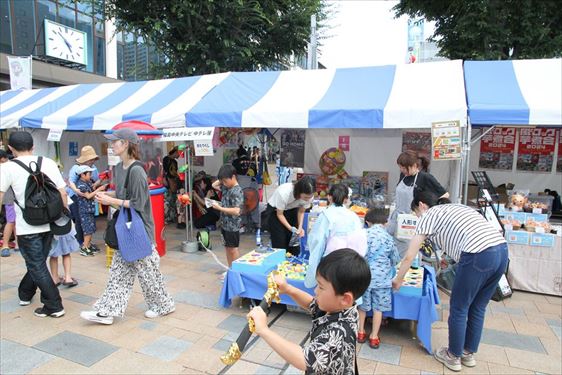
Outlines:
[{"label": "small cream sign with pictures hung high on the right tent pole", "polygon": [[433,160],[461,159],[461,122],[443,121],[431,123]]}]

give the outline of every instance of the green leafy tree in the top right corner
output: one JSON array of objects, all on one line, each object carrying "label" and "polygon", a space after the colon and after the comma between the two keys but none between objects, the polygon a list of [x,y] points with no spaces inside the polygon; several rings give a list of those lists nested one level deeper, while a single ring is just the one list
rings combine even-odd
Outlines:
[{"label": "green leafy tree in the top right corner", "polygon": [[562,56],[559,0],[401,0],[394,11],[435,21],[431,40],[450,59]]}]

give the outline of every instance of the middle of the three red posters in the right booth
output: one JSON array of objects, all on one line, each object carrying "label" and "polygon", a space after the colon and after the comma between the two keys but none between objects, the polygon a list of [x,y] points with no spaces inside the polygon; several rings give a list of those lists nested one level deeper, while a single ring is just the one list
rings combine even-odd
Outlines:
[{"label": "middle of the three red posters in the right booth", "polygon": [[519,130],[517,170],[550,172],[554,161],[556,129],[524,128]]}]

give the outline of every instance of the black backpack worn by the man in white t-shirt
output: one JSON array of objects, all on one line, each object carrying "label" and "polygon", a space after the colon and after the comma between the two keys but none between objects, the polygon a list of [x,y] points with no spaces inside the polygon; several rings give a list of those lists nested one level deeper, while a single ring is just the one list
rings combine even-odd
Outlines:
[{"label": "black backpack worn by the man in white t-shirt", "polygon": [[[63,214],[64,204],[59,189],[45,173],[41,172],[43,157],[37,162],[32,161],[29,166],[17,159],[12,160],[29,173],[25,186],[25,205],[15,200],[23,212],[23,219],[29,225],[44,225],[59,219]],[[32,169],[35,164],[35,170]]]}]

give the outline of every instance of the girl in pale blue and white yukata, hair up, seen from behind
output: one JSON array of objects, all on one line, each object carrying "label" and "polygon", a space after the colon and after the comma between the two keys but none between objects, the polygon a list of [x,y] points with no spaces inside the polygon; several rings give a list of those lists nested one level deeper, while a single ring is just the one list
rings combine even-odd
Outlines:
[{"label": "girl in pale blue and white yukata, hair up, seen from behind", "polygon": [[320,260],[339,249],[353,249],[361,256],[367,250],[367,237],[359,217],[344,206],[349,195],[349,188],[344,184],[332,186],[328,193],[331,205],[319,216],[308,236],[310,258],[304,285],[312,288],[316,285],[316,268]]}]

